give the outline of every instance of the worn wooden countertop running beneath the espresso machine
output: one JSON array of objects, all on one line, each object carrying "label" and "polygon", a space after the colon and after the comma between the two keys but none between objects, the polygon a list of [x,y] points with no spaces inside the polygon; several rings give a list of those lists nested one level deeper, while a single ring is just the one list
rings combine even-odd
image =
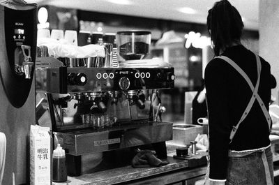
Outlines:
[{"label": "worn wooden countertop running beneath the espresso machine", "polygon": [[171,184],[186,179],[202,177],[206,166],[188,168],[188,162],[168,157],[168,165],[158,168],[133,168],[131,165],[93,172],[80,177],[68,177],[68,182],[57,185],[100,185],[100,184]]}]

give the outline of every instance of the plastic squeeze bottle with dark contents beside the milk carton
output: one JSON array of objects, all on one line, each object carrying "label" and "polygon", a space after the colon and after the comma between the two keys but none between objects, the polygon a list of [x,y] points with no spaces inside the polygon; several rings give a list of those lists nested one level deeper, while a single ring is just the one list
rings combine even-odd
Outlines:
[{"label": "plastic squeeze bottle with dark contents beside the milk carton", "polygon": [[56,149],[53,151],[52,156],[52,181],[53,182],[66,182],[67,181],[67,168],[65,150],[57,144]]}]

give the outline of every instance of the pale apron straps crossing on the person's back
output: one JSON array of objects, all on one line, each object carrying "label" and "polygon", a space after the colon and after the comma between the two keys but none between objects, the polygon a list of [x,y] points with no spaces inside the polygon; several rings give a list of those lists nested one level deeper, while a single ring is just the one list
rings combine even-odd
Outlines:
[{"label": "pale apron straps crossing on the person's back", "polygon": [[250,112],[252,105],[255,102],[255,99],[257,99],[260,107],[262,108],[262,112],[264,112],[264,116],[266,117],[266,121],[269,124],[269,128],[270,128],[271,119],[269,116],[269,111],[266,109],[266,107],[264,106],[264,103],[262,101],[262,98],[260,98],[259,94],[257,93],[257,91],[259,89],[259,81],[260,81],[260,76],[261,76],[261,71],[262,71],[262,64],[259,59],[259,56],[257,54],[255,54],[255,56],[256,56],[256,61],[257,61],[257,76],[258,76],[255,87],[252,84],[248,75],[234,61],[232,61],[232,59],[229,59],[228,57],[225,57],[225,56],[216,57],[216,58],[220,58],[220,59],[227,61],[228,64],[230,64],[232,67],[234,67],[236,69],[236,71],[238,71],[242,75],[242,77],[246,80],[246,82],[248,83],[248,85],[252,91],[252,97],[250,98],[250,101],[246,107],[246,110],[243,112],[241,119],[239,119],[239,122],[236,124],[236,126],[233,126],[233,128],[232,128],[231,134],[229,136],[230,142],[232,142],[232,139],[234,138],[234,135],[235,135],[237,129],[239,128],[239,125],[247,117],[248,113]]}]

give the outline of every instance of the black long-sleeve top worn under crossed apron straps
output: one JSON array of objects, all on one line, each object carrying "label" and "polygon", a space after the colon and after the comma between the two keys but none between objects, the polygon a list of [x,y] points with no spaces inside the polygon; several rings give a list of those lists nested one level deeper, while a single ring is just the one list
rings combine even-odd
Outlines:
[{"label": "black long-sleeve top worn under crossed apron straps", "polygon": [[[250,78],[257,82],[257,61],[255,54],[243,47],[228,47],[224,56],[232,59]],[[269,110],[271,98],[270,64],[262,63],[258,94]],[[257,100],[250,113],[240,124],[229,144],[232,126],[236,126],[243,114],[252,91],[246,80],[223,59],[212,59],[205,69],[206,98],[209,113],[209,156],[210,179],[226,179],[228,150],[243,151],[259,149],[270,145],[269,126]]]}]

